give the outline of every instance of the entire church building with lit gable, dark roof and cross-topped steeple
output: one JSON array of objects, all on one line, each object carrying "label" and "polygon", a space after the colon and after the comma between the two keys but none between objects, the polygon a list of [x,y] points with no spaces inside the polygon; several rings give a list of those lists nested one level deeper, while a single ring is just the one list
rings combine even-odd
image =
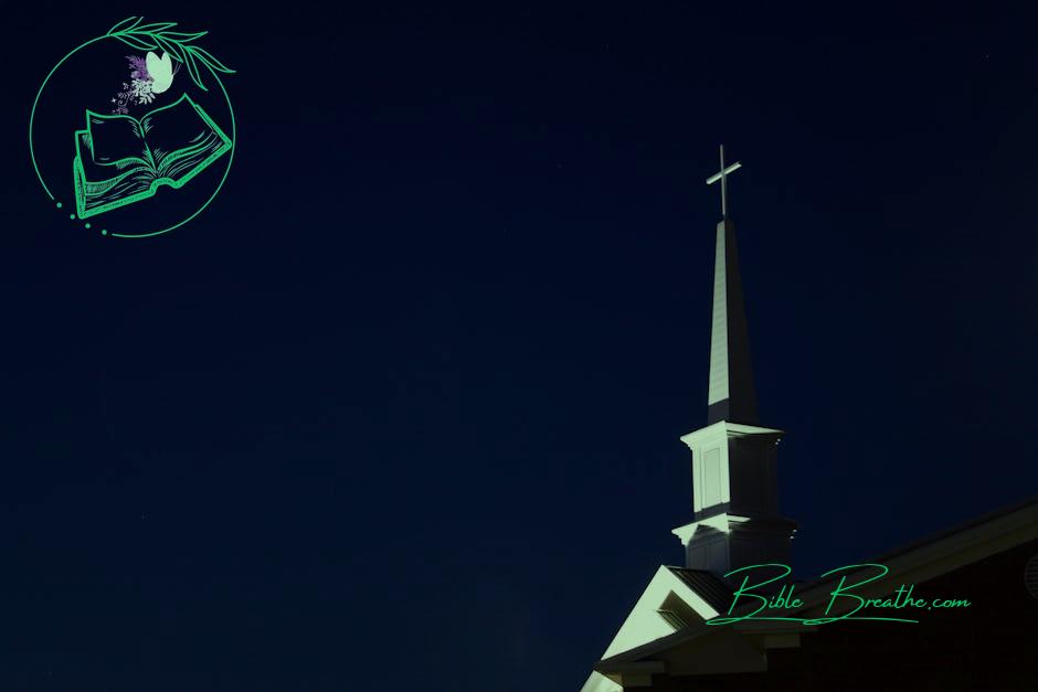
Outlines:
[{"label": "entire church building with lit gable, dark roof and cross-topped steeple", "polygon": [[[784,606],[782,619],[765,618],[776,611],[739,595],[750,573],[732,571],[790,564],[796,532],[778,511],[783,433],[762,427],[756,415],[727,209],[727,177],[739,167],[725,167],[722,148],[721,171],[708,179],[721,183],[722,219],[707,425],[681,438],[692,458],[692,521],[674,529],[685,565],[656,571],[581,692],[1038,690],[1038,497],[861,560],[856,571],[796,583],[795,598],[772,600]],[[839,596],[847,584],[877,607],[903,600],[912,585],[912,608],[888,608],[889,619],[849,619],[858,601]],[[756,593],[788,596],[781,588],[776,578]],[[955,603],[941,607],[912,594]]]}]

